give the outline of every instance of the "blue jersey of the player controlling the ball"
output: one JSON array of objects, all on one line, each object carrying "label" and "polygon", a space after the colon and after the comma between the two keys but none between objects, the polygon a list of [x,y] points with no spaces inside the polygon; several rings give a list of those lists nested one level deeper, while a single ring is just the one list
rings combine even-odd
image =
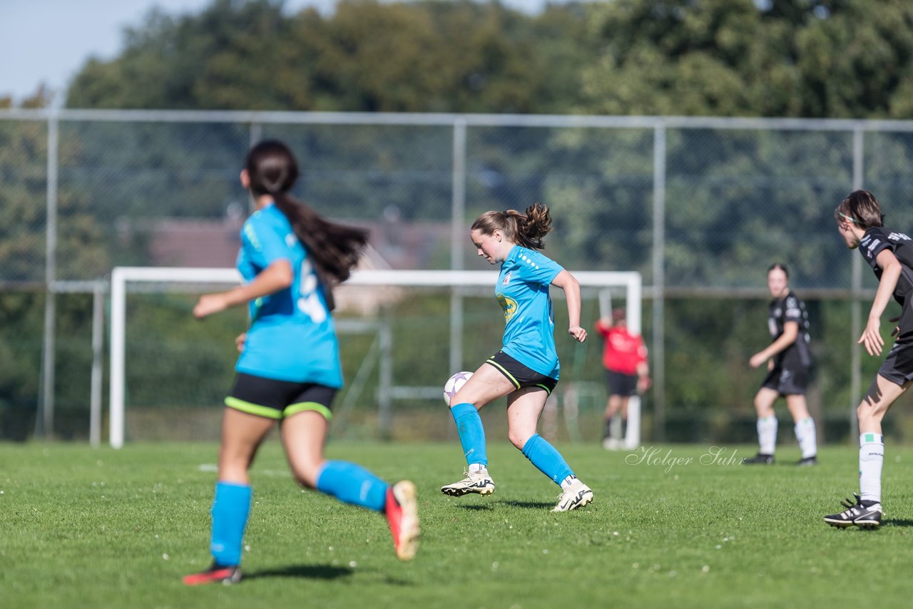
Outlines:
[{"label": "blue jersey of the player controlling the ball", "polygon": [[564,268],[526,247],[514,246],[501,263],[495,297],[504,310],[503,351],[528,368],[558,379],[555,316],[549,285]]}]

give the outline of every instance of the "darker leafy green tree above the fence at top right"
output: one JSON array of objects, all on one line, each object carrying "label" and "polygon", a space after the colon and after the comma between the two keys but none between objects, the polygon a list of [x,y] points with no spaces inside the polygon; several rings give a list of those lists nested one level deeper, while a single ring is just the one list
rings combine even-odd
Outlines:
[{"label": "darker leafy green tree above the fence at top right", "polygon": [[913,5],[886,0],[593,4],[582,111],[909,118]]}]

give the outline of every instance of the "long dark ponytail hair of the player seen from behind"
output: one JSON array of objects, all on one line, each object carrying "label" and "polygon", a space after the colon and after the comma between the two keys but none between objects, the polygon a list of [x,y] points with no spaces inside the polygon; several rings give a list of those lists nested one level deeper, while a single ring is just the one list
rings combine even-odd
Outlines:
[{"label": "long dark ponytail hair of the player seen from behind", "polygon": [[299,241],[308,250],[323,296],[330,310],[335,308],[333,288],[349,278],[368,243],[368,231],[324,220],[308,205],[289,194],[298,180],[298,162],[289,147],[278,140],[257,143],[244,163],[254,196],[268,194],[289,218]]}]

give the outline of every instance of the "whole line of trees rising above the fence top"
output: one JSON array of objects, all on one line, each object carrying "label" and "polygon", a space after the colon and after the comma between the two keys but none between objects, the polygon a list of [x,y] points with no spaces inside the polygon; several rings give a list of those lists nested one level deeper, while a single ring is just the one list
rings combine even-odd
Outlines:
[{"label": "whole line of trees rising above the fence top", "polygon": [[79,70],[66,106],[913,116],[904,0],[614,0],[535,15],[497,0],[341,0],[329,15],[214,0],[152,10],[123,40],[119,57]]}]

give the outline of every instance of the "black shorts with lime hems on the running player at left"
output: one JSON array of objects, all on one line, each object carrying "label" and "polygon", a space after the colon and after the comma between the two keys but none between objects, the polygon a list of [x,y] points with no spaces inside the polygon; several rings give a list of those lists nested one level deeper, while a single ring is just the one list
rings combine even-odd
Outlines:
[{"label": "black shorts with lime hems on the running player at left", "polygon": [[281,420],[305,410],[313,410],[329,421],[336,390],[317,383],[290,383],[253,374],[237,373],[235,386],[226,397],[226,406],[248,415]]}]

